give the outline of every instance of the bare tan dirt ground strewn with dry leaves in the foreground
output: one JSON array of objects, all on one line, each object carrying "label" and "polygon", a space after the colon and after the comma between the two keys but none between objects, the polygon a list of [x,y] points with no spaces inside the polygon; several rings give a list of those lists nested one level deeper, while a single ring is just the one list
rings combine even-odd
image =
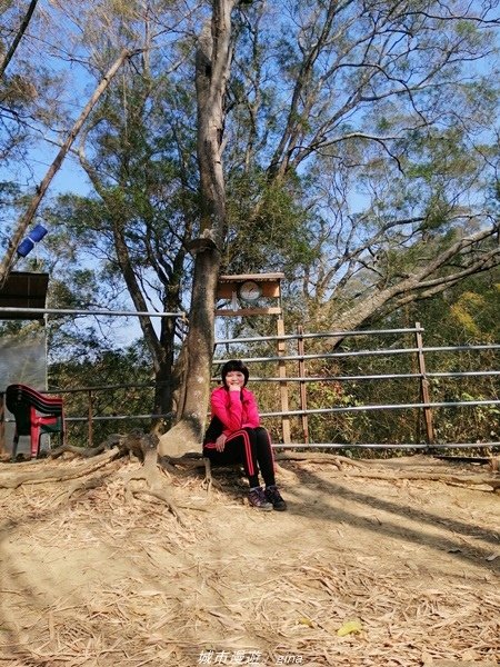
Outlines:
[{"label": "bare tan dirt ground strewn with dry leaves in the foreground", "polygon": [[152,497],[127,502],[137,460],[70,497],[2,486],[78,466],[0,465],[2,667],[500,660],[500,495],[462,482],[498,478],[484,466],[280,461],[286,512],[248,507],[236,470],[208,496],[202,468],[179,468],[166,485],[183,525]]}]

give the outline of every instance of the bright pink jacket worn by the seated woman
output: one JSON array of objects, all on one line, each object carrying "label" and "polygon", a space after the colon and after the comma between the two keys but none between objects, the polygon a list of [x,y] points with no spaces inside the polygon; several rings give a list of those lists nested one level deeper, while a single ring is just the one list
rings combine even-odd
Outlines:
[{"label": "bright pink jacket worn by the seated woman", "polygon": [[244,387],[241,394],[218,387],[212,391],[210,405],[211,416],[222,421],[226,436],[246,427],[257,428],[260,424],[256,397]]}]

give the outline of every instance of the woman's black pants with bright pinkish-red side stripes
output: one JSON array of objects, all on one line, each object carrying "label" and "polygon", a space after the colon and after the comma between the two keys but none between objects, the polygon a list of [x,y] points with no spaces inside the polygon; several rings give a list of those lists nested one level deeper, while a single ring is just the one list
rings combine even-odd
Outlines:
[{"label": "woman's black pants with bright pinkish-red side stripes", "polygon": [[214,447],[203,447],[203,456],[214,466],[243,464],[250,487],[259,486],[259,470],[266,486],[276,484],[271,438],[261,426],[242,428],[231,434],[226,440],[223,451],[217,451]]}]

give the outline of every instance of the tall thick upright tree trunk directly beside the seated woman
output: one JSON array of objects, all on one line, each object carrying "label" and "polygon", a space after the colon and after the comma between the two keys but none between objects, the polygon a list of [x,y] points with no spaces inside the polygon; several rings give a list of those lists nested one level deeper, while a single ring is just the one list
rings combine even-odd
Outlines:
[{"label": "tall thick upright tree trunk directly beside the seated woman", "polygon": [[213,0],[197,50],[198,165],[200,169],[200,236],[191,243],[194,276],[189,334],[182,350],[183,378],[179,420],[160,439],[161,456],[199,451],[210,392],[213,356],[213,309],[220,249],[227,231],[222,170],[223,101],[231,63],[231,11],[234,0]]}]

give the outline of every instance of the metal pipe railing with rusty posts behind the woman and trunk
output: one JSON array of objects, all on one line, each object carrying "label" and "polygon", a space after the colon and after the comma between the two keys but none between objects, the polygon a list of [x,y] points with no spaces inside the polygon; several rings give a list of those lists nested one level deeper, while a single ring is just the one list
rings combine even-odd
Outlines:
[{"label": "metal pipe railing with rusty posts behind the woman and trunk", "polygon": [[[137,313],[136,313],[137,315]],[[173,313],[172,313],[173,315]],[[500,345],[460,345],[460,346],[446,346],[446,347],[424,347],[422,342],[423,328],[417,322],[413,328],[407,329],[383,329],[383,330],[370,330],[370,331],[329,331],[326,334],[303,334],[299,330],[297,334],[283,335],[283,336],[269,336],[269,337],[247,337],[247,338],[232,338],[224,340],[217,340],[217,346],[239,346],[240,348],[249,349],[250,344],[258,344],[259,346],[268,346],[269,344],[278,342],[281,345],[280,352],[278,355],[268,356],[244,356],[240,357],[242,360],[251,365],[279,365],[280,376],[253,376],[251,378],[252,384],[278,384],[280,387],[281,397],[281,409],[279,410],[262,410],[261,417],[264,422],[279,420],[281,428],[281,441],[277,442],[277,447],[284,448],[366,448],[366,449],[428,449],[428,448],[472,448],[472,447],[498,447],[500,444],[496,440],[483,441],[478,444],[473,442],[447,442],[442,438],[437,438],[434,430],[434,415],[440,409],[468,409],[478,407],[494,407],[500,406],[500,400],[494,396],[491,398],[480,398],[477,400],[432,400],[430,395],[430,380],[431,379],[443,379],[443,378],[494,378],[500,376],[500,370],[496,369],[478,369],[478,370],[450,370],[450,371],[433,371],[429,372],[426,368],[427,357],[433,354],[449,354],[449,352],[480,352],[491,351],[497,352],[500,349]],[[414,345],[409,347],[397,347],[397,348],[384,348],[373,350],[334,350],[326,352],[313,352],[306,354],[304,342],[312,340],[329,340],[329,339],[344,339],[344,338],[359,338],[368,337],[374,338],[378,336],[412,336],[414,337]],[[297,341],[297,352],[286,354],[282,347],[283,342],[291,344]],[[318,360],[326,360],[332,362],[336,359],[346,362],[349,358],[382,358],[408,355],[413,359],[418,371],[414,372],[367,372],[367,374],[326,374],[321,375],[314,372],[314,375],[307,375],[307,364],[312,364]],[[214,369],[220,367],[228,358],[217,357],[213,360]],[[498,362],[498,360],[497,360]],[[284,366],[283,366],[284,365]],[[297,367],[297,374],[291,374],[291,367]],[[213,378],[216,380],[216,378]],[[413,380],[418,389],[420,400],[416,401],[403,401],[403,402],[378,402],[366,405],[330,405],[321,407],[309,407],[309,388],[314,384],[329,384],[338,382],[342,386],[349,382],[389,382],[393,380]],[[299,385],[298,394],[298,409],[289,408],[289,389],[292,385]],[[154,382],[137,384],[137,385],[107,385],[107,386],[93,386],[93,387],[81,387],[67,390],[53,390],[59,395],[64,394],[77,394],[86,392],[88,397],[88,409],[87,415],[68,415],[66,421],[68,424],[87,424],[88,427],[88,444],[93,444],[93,425],[99,421],[124,421],[124,420],[142,420],[148,421],[151,419],[171,418],[172,414],[140,414],[140,415],[99,415],[96,414],[93,407],[93,396],[100,391],[111,391],[119,388],[153,388]],[[0,401],[0,410],[3,409],[3,401]],[[403,411],[403,410],[416,410],[420,415],[423,424],[424,436],[423,441],[418,439],[412,442],[313,442],[310,437],[310,420],[317,416],[336,416],[336,415],[349,415],[349,414],[380,414],[381,411]],[[300,432],[300,441],[298,438],[292,438],[290,424],[296,420],[300,420],[300,428],[294,428],[294,432]],[[1,444],[1,429],[3,427],[4,419],[1,418],[0,414],[0,444]]]}]

